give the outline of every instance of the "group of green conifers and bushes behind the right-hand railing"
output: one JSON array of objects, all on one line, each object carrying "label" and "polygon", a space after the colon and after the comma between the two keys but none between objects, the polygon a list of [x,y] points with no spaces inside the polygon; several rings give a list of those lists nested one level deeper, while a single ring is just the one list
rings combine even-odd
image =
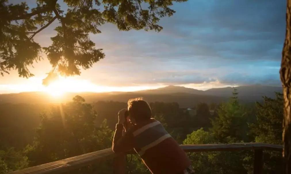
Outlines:
[{"label": "group of green conifers and bushes behind the right-hand railing", "polygon": [[[277,93],[276,99],[264,97],[256,105],[256,120],[246,112],[238,99],[237,92],[218,108],[218,117],[212,120],[209,131],[202,128],[187,135],[184,144],[262,142],[281,144],[283,99]],[[196,173],[253,173],[253,153],[246,152],[201,152],[189,153]],[[206,168],[205,166],[211,166]],[[278,152],[264,152],[264,173],[282,173],[282,156]]]}]

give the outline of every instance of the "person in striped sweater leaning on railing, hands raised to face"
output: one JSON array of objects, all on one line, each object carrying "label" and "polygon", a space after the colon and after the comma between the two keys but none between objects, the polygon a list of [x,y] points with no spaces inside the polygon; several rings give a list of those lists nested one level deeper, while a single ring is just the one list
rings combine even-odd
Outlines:
[{"label": "person in striped sweater leaning on railing, hands raised to face", "polygon": [[151,108],[142,98],[130,99],[127,109],[119,111],[113,137],[113,152],[132,148],[153,174],[194,173],[185,152],[162,124],[152,118]]}]

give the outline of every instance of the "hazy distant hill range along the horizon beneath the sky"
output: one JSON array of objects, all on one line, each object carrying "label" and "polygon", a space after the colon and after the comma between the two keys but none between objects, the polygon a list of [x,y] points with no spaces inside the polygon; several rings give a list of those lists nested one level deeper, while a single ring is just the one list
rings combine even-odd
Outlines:
[{"label": "hazy distant hill range along the horizon beneath the sky", "polygon": [[106,92],[106,93],[67,93],[61,98],[49,96],[45,92],[23,92],[18,94],[0,94],[0,103],[59,103],[72,101],[75,95],[85,98],[86,102],[122,101],[142,96],[148,102],[178,102],[180,107],[193,107],[197,103],[219,103],[228,100],[233,89],[239,92],[242,102],[262,101],[262,96],[275,97],[275,92],[282,92],[282,87],[251,85],[239,87],[213,88],[206,91],[180,86],[167,86],[136,92]]}]

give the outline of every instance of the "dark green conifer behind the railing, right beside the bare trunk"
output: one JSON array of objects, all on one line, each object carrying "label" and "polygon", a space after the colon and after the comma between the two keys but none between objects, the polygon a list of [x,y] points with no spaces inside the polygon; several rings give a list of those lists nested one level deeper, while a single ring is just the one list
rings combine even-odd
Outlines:
[{"label": "dark green conifer behind the railing, right beside the bare trunk", "polygon": [[[255,142],[283,144],[283,95],[276,93],[276,99],[264,97],[264,103],[257,103],[257,122],[250,124]],[[252,159],[251,159],[252,160]],[[283,173],[281,152],[264,153],[264,173]]]}]

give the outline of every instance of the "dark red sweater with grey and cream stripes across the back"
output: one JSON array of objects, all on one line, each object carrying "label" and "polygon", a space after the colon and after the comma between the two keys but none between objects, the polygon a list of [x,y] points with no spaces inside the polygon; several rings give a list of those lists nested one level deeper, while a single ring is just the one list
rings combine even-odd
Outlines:
[{"label": "dark red sweater with grey and cream stripes across the back", "polygon": [[190,166],[190,160],[178,143],[155,119],[133,125],[122,136],[123,125],[117,124],[113,138],[114,152],[134,148],[154,174],[178,174]]}]

